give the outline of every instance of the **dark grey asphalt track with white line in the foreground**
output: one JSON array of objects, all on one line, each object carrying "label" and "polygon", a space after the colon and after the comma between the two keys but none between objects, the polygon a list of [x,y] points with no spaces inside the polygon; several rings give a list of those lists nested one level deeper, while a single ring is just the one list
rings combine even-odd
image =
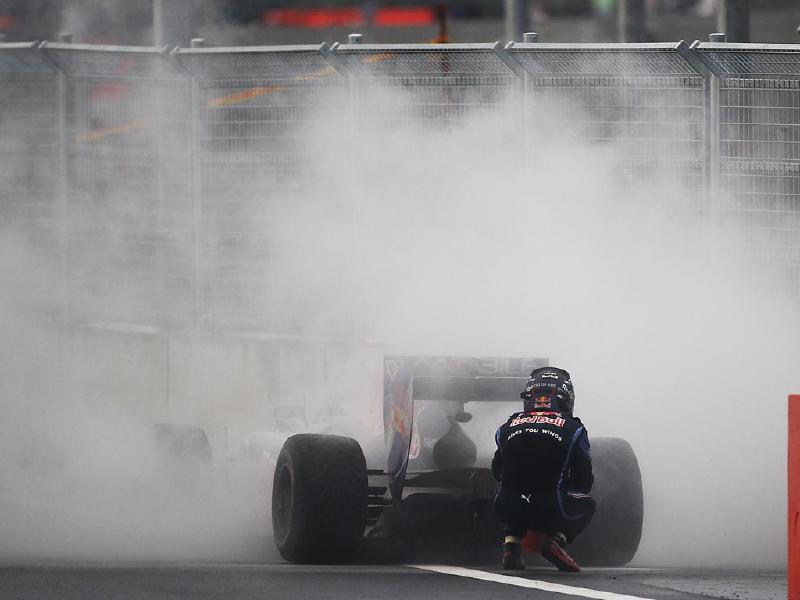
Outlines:
[{"label": "dark grey asphalt track with white line in the foreground", "polygon": [[[725,598],[783,600],[785,574],[754,571],[679,571],[660,569],[585,569],[578,575],[550,568],[529,568],[512,575],[512,582],[548,583],[585,588],[610,595],[580,592],[567,595],[509,583],[463,576],[495,577],[495,565],[456,568],[462,575],[427,570],[421,565],[306,566],[275,564],[27,564],[0,565],[0,599],[15,600],[197,600],[239,598],[469,600],[526,598],[529,600],[595,597],[623,600],[621,595],[652,600]],[[444,567],[448,568],[448,567]],[[544,582],[543,584],[541,582]],[[578,595],[581,594],[581,595]]]}]

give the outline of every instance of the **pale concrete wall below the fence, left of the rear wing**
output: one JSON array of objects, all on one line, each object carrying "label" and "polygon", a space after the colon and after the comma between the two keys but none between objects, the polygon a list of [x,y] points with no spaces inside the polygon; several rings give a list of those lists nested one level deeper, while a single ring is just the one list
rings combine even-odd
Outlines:
[{"label": "pale concrete wall below the fence, left of the rear wing", "polygon": [[200,426],[216,459],[235,455],[247,435],[272,429],[277,406],[303,407],[310,429],[342,412],[382,419],[382,354],[374,349],[94,327],[50,336],[59,348],[60,393],[145,422]]}]

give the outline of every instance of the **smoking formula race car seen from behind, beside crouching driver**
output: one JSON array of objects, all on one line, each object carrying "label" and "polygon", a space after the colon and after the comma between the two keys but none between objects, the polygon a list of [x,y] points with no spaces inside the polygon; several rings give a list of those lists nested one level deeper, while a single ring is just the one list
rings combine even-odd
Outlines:
[{"label": "smoking formula race car seen from behind, beside crouching driver", "polygon": [[[362,446],[351,437],[289,437],[272,490],[280,554],[297,563],[355,561],[365,548],[494,556],[502,529],[492,508],[493,433],[519,410],[515,399],[541,366],[547,361],[385,357],[386,468],[367,469]],[[570,552],[587,565],[624,565],[641,538],[639,465],[622,439],[591,442],[597,513]]]}]

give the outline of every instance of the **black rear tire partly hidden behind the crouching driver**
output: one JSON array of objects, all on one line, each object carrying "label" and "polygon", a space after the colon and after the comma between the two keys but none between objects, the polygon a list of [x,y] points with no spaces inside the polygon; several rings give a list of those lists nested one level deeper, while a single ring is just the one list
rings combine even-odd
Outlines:
[{"label": "black rear tire partly hidden behind the crouching driver", "polygon": [[642,537],[642,474],[625,440],[592,439],[591,453],[597,512],[569,551],[580,564],[619,567],[633,560]]}]

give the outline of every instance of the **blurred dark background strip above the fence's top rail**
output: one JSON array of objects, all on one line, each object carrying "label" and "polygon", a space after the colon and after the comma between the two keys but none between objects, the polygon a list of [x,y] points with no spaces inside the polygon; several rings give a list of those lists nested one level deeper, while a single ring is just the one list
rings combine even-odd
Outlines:
[{"label": "blurred dark background strip above the fence's top rail", "polygon": [[342,40],[392,44],[518,40],[694,40],[724,31],[731,42],[797,41],[795,0],[0,0],[9,42],[264,46]]}]

